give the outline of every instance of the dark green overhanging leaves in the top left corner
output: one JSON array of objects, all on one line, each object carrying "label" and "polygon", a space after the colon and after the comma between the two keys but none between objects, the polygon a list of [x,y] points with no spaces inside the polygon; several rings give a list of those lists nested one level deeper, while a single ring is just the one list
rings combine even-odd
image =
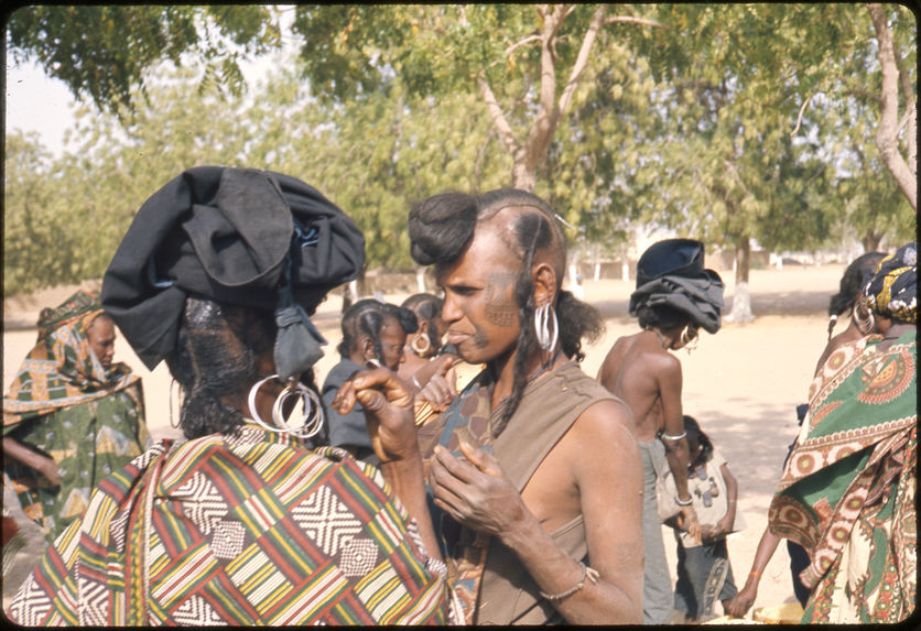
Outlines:
[{"label": "dark green overhanging leaves in the top left corner", "polygon": [[275,12],[260,4],[35,4],[11,13],[7,30],[14,59],[36,59],[75,97],[111,112],[133,105],[156,64],[178,67],[187,55],[207,62],[205,80],[239,91],[241,57],[280,42]]}]

